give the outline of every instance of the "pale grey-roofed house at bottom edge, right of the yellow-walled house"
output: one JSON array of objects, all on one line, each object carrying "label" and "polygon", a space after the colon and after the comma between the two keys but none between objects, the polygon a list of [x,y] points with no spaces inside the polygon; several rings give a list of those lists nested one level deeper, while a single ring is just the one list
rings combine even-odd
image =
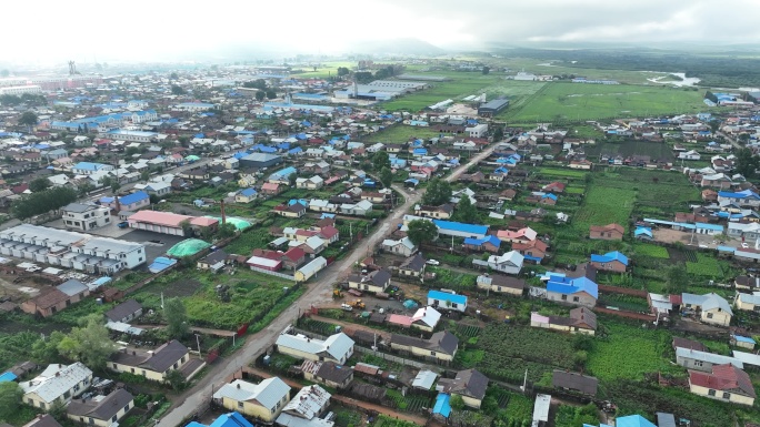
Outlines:
[{"label": "pale grey-roofed house at bottom edge, right of the yellow-walled house", "polygon": [[332,427],[333,423],[319,418],[330,406],[331,395],[318,385],[306,386],[282,408],[276,424],[284,427]]}]

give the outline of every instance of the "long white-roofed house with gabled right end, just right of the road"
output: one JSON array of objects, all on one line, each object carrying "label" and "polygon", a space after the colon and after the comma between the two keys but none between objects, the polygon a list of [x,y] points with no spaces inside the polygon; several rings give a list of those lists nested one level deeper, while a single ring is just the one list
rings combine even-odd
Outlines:
[{"label": "long white-roofed house with gabled right end, just right of the road", "polygon": [[299,360],[332,360],[343,365],[353,354],[353,339],[343,333],[330,335],[324,340],[303,335],[280,334],[274,344],[279,353]]}]

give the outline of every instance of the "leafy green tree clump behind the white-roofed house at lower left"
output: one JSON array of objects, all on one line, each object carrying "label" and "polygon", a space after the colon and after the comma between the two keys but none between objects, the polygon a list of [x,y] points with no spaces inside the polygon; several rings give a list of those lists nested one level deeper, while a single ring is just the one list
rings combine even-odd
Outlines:
[{"label": "leafy green tree clump behind the white-roofed house at lower left", "polygon": [[91,314],[81,318],[79,324],[58,343],[58,352],[93,369],[106,367],[109,356],[116,352],[116,344],[108,336],[102,316]]}]

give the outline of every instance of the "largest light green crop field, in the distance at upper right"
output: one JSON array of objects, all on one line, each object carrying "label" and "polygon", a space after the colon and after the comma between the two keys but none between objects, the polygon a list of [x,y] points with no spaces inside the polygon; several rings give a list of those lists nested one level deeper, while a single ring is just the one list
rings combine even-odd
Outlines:
[{"label": "largest light green crop field, in the distance at upper right", "polygon": [[554,82],[509,108],[499,119],[508,122],[549,122],[633,118],[651,114],[697,113],[706,109],[703,91],[629,84]]}]

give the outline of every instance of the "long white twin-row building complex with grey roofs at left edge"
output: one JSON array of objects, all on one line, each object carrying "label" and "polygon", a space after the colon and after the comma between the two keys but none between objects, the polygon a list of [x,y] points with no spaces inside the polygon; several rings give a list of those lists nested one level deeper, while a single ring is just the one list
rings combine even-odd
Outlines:
[{"label": "long white twin-row building complex with grey roofs at left edge", "polygon": [[139,243],[31,224],[1,231],[0,254],[93,274],[113,274],[146,262]]}]

